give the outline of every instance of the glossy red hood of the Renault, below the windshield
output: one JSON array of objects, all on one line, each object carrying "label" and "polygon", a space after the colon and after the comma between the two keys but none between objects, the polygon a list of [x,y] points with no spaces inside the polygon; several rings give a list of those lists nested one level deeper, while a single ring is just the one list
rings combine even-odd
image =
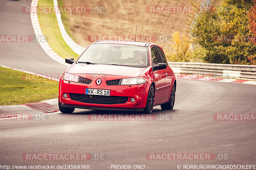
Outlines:
[{"label": "glossy red hood of the Renault, below the windshield", "polygon": [[71,74],[105,74],[125,77],[138,77],[146,68],[136,68],[103,64],[74,64],[68,70]]}]

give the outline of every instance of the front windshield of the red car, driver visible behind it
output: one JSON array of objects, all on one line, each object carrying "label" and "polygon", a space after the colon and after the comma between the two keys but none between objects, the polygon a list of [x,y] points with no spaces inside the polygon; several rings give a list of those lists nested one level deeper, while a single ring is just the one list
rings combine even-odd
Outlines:
[{"label": "front windshield of the red car, driver visible behind it", "polygon": [[124,44],[92,44],[79,57],[77,63],[148,67],[148,48]]}]

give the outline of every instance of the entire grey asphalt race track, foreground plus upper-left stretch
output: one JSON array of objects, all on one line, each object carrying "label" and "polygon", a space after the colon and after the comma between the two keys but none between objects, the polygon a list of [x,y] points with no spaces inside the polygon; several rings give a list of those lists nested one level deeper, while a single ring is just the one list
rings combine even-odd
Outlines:
[{"label": "entire grey asphalt race track, foreground plus upper-left stretch", "polygon": [[[18,10],[29,5],[24,0],[0,2],[1,34],[33,34],[29,15]],[[10,63],[13,60],[16,62]],[[65,70],[47,58],[38,43],[1,43],[1,64],[33,72]],[[170,170],[178,169],[177,165],[183,169],[187,164],[255,164],[255,121],[213,119],[214,114],[255,114],[255,96],[255,85],[178,81],[174,109],[157,106],[153,111],[158,116],[170,116],[170,120],[90,121],[92,114],[128,112],[76,109],[74,114],[46,115],[47,120],[42,121],[1,121],[0,165],[87,164],[90,169],[103,170],[110,169],[111,164],[136,164]],[[104,153],[107,159],[28,161],[22,159],[25,153]],[[148,153],[221,153],[228,154],[228,159],[148,160]]]}]

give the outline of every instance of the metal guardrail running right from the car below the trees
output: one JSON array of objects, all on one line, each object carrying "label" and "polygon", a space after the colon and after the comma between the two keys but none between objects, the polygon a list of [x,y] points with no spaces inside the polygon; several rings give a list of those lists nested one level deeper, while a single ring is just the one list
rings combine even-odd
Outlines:
[{"label": "metal guardrail running right from the car below the trees", "polygon": [[168,62],[174,73],[256,79],[256,65]]}]

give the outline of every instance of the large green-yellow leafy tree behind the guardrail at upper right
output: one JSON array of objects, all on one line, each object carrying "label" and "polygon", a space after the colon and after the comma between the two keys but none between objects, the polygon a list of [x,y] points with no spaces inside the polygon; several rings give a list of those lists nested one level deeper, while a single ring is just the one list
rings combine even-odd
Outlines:
[{"label": "large green-yellow leafy tree behind the guardrail at upper right", "polygon": [[[255,30],[252,5],[249,0],[224,0],[222,8],[195,15],[194,43],[201,46],[205,62],[253,64],[256,46],[248,41],[250,30]],[[249,29],[250,15],[253,21]]]}]

